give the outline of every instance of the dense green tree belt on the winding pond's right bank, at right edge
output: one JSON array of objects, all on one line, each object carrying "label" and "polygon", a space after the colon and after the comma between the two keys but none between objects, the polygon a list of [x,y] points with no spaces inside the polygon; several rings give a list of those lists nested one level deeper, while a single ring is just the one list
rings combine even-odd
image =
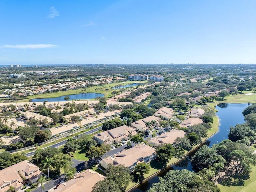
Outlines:
[{"label": "dense green tree belt on the winding pond's right bank, at right edge", "polygon": [[231,126],[228,140],[214,144],[211,148],[204,145],[192,156],[191,164],[199,175],[212,180],[223,170],[228,178],[226,177],[226,180],[219,178],[220,181],[231,184],[249,174],[251,166],[256,165],[256,155],[250,148],[256,140],[253,124],[255,109],[256,104],[253,104],[243,111],[246,122],[235,127]]}]

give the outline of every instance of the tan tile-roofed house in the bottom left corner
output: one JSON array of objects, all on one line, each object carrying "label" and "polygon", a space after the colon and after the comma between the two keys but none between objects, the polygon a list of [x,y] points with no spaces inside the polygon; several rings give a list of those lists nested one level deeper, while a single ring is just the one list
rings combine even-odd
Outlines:
[{"label": "tan tile-roofed house in the bottom left corner", "polygon": [[0,192],[6,192],[10,186],[15,191],[22,189],[24,182],[32,184],[42,175],[39,167],[24,160],[10,167],[0,170]]}]

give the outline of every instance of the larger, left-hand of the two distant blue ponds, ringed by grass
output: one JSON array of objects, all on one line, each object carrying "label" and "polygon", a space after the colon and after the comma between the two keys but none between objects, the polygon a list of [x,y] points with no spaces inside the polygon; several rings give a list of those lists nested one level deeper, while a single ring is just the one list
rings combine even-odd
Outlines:
[{"label": "larger, left-hand of the two distant blue ponds, ringed by grass", "polygon": [[73,95],[64,95],[60,97],[53,97],[53,98],[41,98],[41,99],[32,99],[31,102],[44,102],[44,101],[65,101],[64,97],[69,97],[70,100],[79,100],[79,99],[94,99],[96,97],[104,97],[104,94],[100,93],[80,93],[80,94],[73,94]]}]

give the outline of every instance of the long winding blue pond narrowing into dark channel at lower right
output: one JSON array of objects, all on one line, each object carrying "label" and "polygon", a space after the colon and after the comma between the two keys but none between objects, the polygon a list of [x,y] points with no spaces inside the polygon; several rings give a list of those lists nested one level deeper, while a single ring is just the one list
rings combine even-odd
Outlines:
[{"label": "long winding blue pond narrowing into dark channel at lower right", "polygon": [[[216,106],[218,112],[216,115],[219,118],[219,130],[214,136],[209,138],[204,144],[208,144],[212,146],[213,144],[218,144],[222,140],[228,138],[229,128],[230,126],[235,126],[236,124],[244,123],[244,116],[242,114],[243,110],[248,106],[248,104],[229,104],[222,103]],[[204,145],[202,144],[202,145]],[[202,146],[201,145],[201,146]],[[200,148],[200,147],[199,147]],[[188,169],[193,171],[192,165],[190,163],[190,156],[193,156],[198,149],[190,152],[186,158],[178,162],[177,164],[166,168],[166,170],[158,173],[156,176],[149,178],[144,181],[142,184],[138,185],[136,188],[130,190],[129,192],[146,192],[151,186],[152,183],[159,182],[159,177],[164,176],[169,170],[182,170]]]}]

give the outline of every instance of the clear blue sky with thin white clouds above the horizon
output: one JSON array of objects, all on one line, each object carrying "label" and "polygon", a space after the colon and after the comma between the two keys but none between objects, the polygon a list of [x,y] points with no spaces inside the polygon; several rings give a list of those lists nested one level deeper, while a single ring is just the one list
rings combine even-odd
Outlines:
[{"label": "clear blue sky with thin white clouds above the horizon", "polygon": [[0,64],[256,63],[255,0],[0,0]]}]

